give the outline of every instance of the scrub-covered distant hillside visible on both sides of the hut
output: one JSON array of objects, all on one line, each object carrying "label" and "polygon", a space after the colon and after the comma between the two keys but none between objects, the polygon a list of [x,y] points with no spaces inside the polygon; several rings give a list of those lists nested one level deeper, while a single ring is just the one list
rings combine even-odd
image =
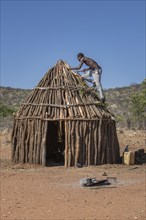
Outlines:
[{"label": "scrub-covered distant hillside visible on both sides of the hut", "polygon": [[[115,115],[117,119],[117,127],[129,128],[130,119],[130,97],[138,90],[141,84],[131,84],[127,87],[114,88],[104,90],[108,109]],[[28,89],[15,89],[11,87],[0,87],[0,123],[1,129],[11,128],[13,122],[12,112],[17,111],[30,94]],[[132,127],[136,127],[132,124]]]}]

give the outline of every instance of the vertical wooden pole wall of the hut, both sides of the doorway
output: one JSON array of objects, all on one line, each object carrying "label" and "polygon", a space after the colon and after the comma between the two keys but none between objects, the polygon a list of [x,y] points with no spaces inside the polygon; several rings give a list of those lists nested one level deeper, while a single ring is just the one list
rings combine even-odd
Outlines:
[{"label": "vertical wooden pole wall of the hut, both sides of the doorway", "polygon": [[[12,159],[15,163],[46,165],[47,123],[39,119],[15,121]],[[55,123],[55,122],[54,122]],[[50,136],[49,138],[57,138]],[[119,144],[115,122],[110,120],[65,121],[65,166],[118,163]]]}]

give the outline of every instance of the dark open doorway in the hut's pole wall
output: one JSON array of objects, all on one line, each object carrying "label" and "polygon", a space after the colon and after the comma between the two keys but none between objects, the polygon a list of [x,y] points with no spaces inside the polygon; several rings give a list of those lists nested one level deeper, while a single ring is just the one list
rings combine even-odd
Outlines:
[{"label": "dark open doorway in the hut's pole wall", "polygon": [[65,151],[65,128],[62,121],[48,121],[46,136],[47,166],[63,166]]}]

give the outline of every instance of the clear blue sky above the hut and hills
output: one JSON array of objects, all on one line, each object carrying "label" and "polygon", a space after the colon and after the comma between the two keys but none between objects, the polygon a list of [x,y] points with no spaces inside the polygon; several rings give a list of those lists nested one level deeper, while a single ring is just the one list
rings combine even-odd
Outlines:
[{"label": "clear blue sky above the hut and hills", "polygon": [[144,0],[1,0],[1,86],[32,89],[79,52],[102,66],[104,88],[141,83],[145,25]]}]

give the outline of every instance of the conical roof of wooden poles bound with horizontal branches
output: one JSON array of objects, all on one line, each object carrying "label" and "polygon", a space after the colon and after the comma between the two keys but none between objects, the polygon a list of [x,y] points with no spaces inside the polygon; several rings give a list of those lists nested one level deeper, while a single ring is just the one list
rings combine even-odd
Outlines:
[{"label": "conical roof of wooden poles bound with horizontal branches", "polygon": [[112,118],[95,90],[59,60],[22,103],[16,118],[46,120]]}]

